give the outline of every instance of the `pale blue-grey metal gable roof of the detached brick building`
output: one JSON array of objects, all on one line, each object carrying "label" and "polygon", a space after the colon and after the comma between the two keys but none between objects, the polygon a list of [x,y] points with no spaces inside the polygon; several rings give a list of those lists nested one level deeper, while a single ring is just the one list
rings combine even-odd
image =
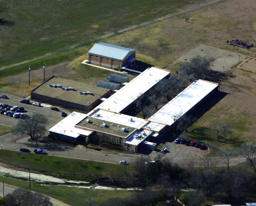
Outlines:
[{"label": "pale blue-grey metal gable roof of the detached brick building", "polygon": [[109,57],[111,59],[123,60],[128,53],[135,52],[134,49],[125,48],[122,46],[115,46],[107,43],[95,44],[90,50],[89,54],[98,55],[101,57]]}]

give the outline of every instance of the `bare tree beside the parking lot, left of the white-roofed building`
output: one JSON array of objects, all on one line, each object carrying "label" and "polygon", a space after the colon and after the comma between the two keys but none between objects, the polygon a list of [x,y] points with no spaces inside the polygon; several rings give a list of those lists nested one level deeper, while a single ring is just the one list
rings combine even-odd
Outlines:
[{"label": "bare tree beside the parking lot, left of the white-roofed building", "polygon": [[41,135],[46,133],[47,124],[48,118],[42,113],[35,112],[32,116],[20,119],[13,128],[13,132],[16,134],[28,134],[32,140],[38,140]]}]

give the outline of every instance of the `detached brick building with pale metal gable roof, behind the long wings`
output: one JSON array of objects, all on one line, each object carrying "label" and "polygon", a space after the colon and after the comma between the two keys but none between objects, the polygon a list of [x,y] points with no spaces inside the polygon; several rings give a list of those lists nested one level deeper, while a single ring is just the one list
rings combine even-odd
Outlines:
[{"label": "detached brick building with pale metal gable roof, behind the long wings", "polygon": [[135,50],[107,43],[97,43],[88,52],[88,63],[117,70],[135,65]]}]

